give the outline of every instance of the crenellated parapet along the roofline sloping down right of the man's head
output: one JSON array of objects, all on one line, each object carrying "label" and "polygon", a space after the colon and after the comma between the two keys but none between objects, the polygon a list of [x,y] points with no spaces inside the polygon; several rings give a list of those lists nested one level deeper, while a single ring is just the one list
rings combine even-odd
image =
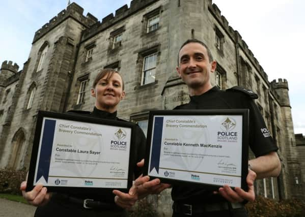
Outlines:
[{"label": "crenellated parapet along the roofline sloping down right of the man's head", "polygon": [[251,60],[254,67],[257,69],[257,71],[261,74],[261,76],[265,79],[266,82],[268,82],[268,76],[265,73],[264,69],[259,64],[258,60],[255,58],[253,52],[248,48],[245,41],[242,39],[240,34],[237,30],[234,30],[230,25],[226,17],[221,15],[221,11],[219,8],[212,3],[212,0],[208,0],[208,8],[209,11],[212,13],[212,15],[215,17],[215,19],[219,22],[221,27],[224,28],[228,36],[231,38],[232,41],[234,41],[235,44],[238,44],[239,48],[243,50],[243,52],[247,55],[247,57]]}]

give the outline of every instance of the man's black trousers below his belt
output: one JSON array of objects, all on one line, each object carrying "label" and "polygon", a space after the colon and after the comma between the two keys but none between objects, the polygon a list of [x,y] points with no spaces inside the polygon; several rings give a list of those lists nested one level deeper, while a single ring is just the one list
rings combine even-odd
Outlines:
[{"label": "man's black trousers below his belt", "polygon": [[212,212],[202,212],[202,213],[195,213],[192,215],[184,215],[177,212],[173,212],[173,217],[247,217],[247,211],[243,208],[237,208],[230,210],[219,210],[219,211],[212,211]]}]

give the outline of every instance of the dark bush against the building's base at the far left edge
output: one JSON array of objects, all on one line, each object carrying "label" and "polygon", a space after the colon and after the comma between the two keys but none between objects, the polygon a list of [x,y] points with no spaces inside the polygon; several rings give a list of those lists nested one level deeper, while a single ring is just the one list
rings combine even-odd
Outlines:
[{"label": "dark bush against the building's base at the far left edge", "polygon": [[0,193],[21,195],[20,183],[25,176],[25,170],[0,169]]}]

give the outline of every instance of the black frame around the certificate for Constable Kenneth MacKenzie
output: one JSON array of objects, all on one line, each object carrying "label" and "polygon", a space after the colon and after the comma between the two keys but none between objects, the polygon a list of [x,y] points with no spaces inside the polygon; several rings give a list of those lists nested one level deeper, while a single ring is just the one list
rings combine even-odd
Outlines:
[{"label": "black frame around the certificate for Constable Kenneth MacKenzie", "polygon": [[[149,175],[150,179],[159,178],[162,183],[169,183],[172,185],[184,185],[184,186],[196,186],[199,188],[205,188],[209,190],[217,190],[224,184],[210,184],[197,182],[197,181],[185,181],[175,178],[166,178],[163,175],[151,175],[150,164],[151,164],[151,149],[152,149],[152,134],[153,134],[153,123],[155,116],[166,116],[166,115],[241,115],[242,116],[242,150],[241,150],[241,188],[244,191],[248,190],[246,183],[246,176],[248,174],[248,143],[249,143],[249,110],[248,109],[211,109],[211,110],[153,110],[149,113],[148,130],[147,130],[147,146],[146,146],[146,160],[144,165],[144,175]],[[160,140],[161,143],[161,140]],[[161,149],[161,145],[160,145]],[[159,153],[158,153],[159,154]],[[175,169],[175,168],[171,168]],[[164,174],[165,175],[165,174]]]}]

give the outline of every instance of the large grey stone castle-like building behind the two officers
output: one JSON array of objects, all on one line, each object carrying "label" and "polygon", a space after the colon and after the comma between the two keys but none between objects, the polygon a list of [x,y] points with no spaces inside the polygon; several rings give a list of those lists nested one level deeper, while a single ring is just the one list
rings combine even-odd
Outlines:
[{"label": "large grey stone castle-like building behind the two officers", "polygon": [[72,3],[37,30],[23,70],[11,61],[2,64],[0,167],[29,167],[38,110],[91,110],[90,89],[99,69],[121,72],[126,98],[119,116],[144,130],[149,110],[188,102],[187,87],[176,73],[177,53],[186,39],[197,38],[217,61],[213,85],[240,85],[260,96],[256,103],[280,148],[283,169],[278,178],[257,180],[257,194],[304,197],[288,82],[268,82],[252,51],[211,0],[133,0],[130,8],[125,5],[101,21],[83,11]]}]

